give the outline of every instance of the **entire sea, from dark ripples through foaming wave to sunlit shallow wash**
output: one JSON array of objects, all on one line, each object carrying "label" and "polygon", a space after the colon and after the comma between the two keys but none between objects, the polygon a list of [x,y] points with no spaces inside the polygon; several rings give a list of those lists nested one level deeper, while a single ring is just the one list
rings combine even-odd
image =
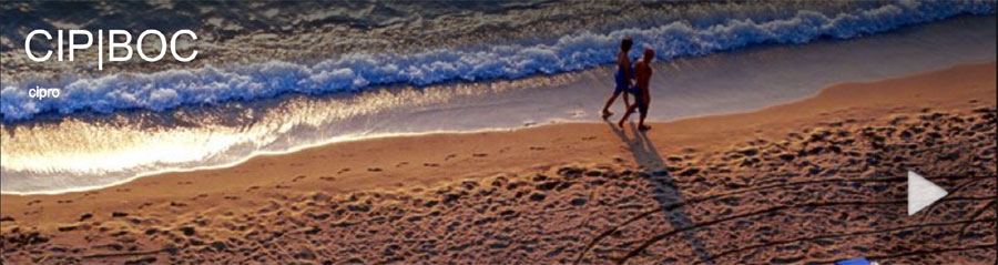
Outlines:
[{"label": "entire sea, from dark ripples through foaming wave to sunlit shallow wash", "polygon": [[[218,26],[204,27],[210,32],[205,43],[194,45],[222,51],[210,53],[205,62],[166,69],[125,64],[95,72],[86,63],[49,63],[32,70],[39,67],[18,61],[23,57],[12,44],[18,30],[0,29],[0,191],[82,191],[364,137],[599,121],[598,111],[612,91],[609,64],[624,35],[659,51],[653,121],[750,111],[806,98],[837,82],[995,60],[996,49],[994,1],[665,2],[593,9],[549,1],[448,3],[408,12],[400,10],[411,8],[377,3],[344,7],[380,19],[326,10],[329,17],[320,22],[294,29],[268,28],[266,20],[228,21],[237,16],[218,11],[242,6],[200,7],[212,16],[193,16],[189,26]],[[45,10],[0,10],[37,11],[32,8]],[[254,10],[287,22],[285,9]],[[623,14],[631,9],[637,14]],[[352,16],[357,18],[346,18]],[[527,22],[516,23],[521,20]],[[180,21],[176,27],[189,27]],[[495,34],[476,35],[467,32],[469,27],[457,27],[469,21],[479,22],[470,28]],[[28,18],[21,22],[37,24]],[[550,29],[538,30],[538,24]],[[247,49],[256,52],[248,52],[249,59],[222,63],[238,58],[226,53],[230,42],[266,30],[277,37],[267,35],[271,40],[259,48],[251,41]],[[284,43],[274,38],[312,31],[347,32],[356,37],[350,41],[366,44],[274,44]],[[426,38],[425,32],[461,37],[401,41]],[[393,49],[377,44],[386,39],[403,43]],[[63,96],[27,98],[23,88],[35,84],[62,88]]]}]

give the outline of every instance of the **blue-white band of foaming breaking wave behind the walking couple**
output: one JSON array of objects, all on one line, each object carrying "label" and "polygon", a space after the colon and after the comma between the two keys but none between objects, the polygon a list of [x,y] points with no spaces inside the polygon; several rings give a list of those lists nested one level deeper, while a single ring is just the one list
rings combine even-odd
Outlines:
[{"label": "blue-white band of foaming breaking wave behind the walking couple", "polygon": [[[849,39],[959,14],[994,14],[994,1],[898,1],[834,16],[802,10],[793,17],[758,21],[719,20],[694,26],[674,21],[658,27],[580,32],[536,44],[495,44],[430,49],[415,53],[353,53],[315,64],[271,61],[232,68],[203,67],[154,73],[116,73],[95,79],[22,80],[3,83],[2,120],[37,114],[118,110],[164,111],[184,104],[216,104],[283,93],[356,92],[383,84],[429,85],[450,81],[519,79],[539,73],[589,69],[613,61],[618,41],[632,37],[654,48],[661,60],[704,55],[760,43],[806,43],[821,38]],[[635,49],[632,55],[637,55]],[[62,88],[58,99],[28,96],[28,86]]]}]

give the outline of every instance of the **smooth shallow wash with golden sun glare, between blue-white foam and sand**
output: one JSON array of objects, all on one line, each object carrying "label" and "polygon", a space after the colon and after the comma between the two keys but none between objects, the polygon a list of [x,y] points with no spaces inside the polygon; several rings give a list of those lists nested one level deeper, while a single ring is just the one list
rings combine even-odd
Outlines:
[{"label": "smooth shallow wash with golden sun glare, between blue-white foam and sand", "polygon": [[[839,82],[994,60],[994,31],[978,28],[994,29],[994,21],[964,18],[853,41],[817,41],[803,49],[766,45],[659,62],[656,72],[665,78],[653,80],[658,85],[652,94],[666,96],[656,96],[650,119],[668,122],[757,111],[814,96]],[[912,43],[921,39],[944,40],[936,44],[946,49],[929,51],[926,43]],[[879,52],[882,47],[900,48]],[[800,64],[800,58],[823,63]],[[896,58],[904,58],[904,63],[892,63],[900,60]],[[497,83],[387,89],[343,99],[286,96],[246,105],[4,125],[10,131],[3,134],[7,160],[0,193],[91,191],[161,173],[233,166],[257,155],[286,154],[357,135],[376,139],[507,131],[552,121],[599,122],[598,108],[591,105],[605,100],[611,75],[611,69],[597,69]],[[246,118],[223,122],[231,116]],[[91,139],[93,133],[105,136]]]}]

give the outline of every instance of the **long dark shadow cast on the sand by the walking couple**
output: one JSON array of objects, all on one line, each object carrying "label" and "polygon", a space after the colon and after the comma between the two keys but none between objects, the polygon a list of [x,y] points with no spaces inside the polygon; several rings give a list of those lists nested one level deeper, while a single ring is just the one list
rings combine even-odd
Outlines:
[{"label": "long dark shadow cast on the sand by the walking couple", "polygon": [[[659,150],[655,149],[652,141],[648,139],[648,135],[644,132],[639,131],[634,123],[628,123],[630,124],[631,131],[635,132],[633,139],[628,137],[627,132],[621,128],[618,128],[617,124],[613,124],[612,122],[607,122],[607,124],[610,125],[610,130],[613,134],[615,134],[621,142],[627,143],[631,149],[631,154],[634,155],[634,162],[641,166],[641,171],[644,173],[639,175],[648,177],[649,182],[653,185],[652,193],[654,194],[654,200],[659,202],[663,212],[666,214],[666,218],[672,225],[672,230],[693,226],[693,220],[690,218],[690,213],[686,212],[684,206],[670,207],[670,205],[682,205],[684,201],[683,195],[676,188],[675,181],[669,174],[669,171],[665,171],[665,161],[662,160],[662,155],[659,154]],[[707,253],[703,242],[696,238],[694,230],[686,231],[683,234],[686,243],[693,248],[693,253],[695,253],[702,262],[711,259],[710,253]]]}]

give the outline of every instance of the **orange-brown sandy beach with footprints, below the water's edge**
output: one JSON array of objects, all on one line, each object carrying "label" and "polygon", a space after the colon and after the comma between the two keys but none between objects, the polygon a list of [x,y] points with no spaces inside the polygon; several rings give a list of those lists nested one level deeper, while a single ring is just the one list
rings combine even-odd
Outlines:
[{"label": "orange-brown sandy beach with footprints, below the water's edge", "polygon": [[[648,133],[560,123],[368,139],[96,191],[2,195],[0,257],[994,264],[995,72],[992,61],[842,83]],[[909,170],[950,195],[907,216]]]}]

